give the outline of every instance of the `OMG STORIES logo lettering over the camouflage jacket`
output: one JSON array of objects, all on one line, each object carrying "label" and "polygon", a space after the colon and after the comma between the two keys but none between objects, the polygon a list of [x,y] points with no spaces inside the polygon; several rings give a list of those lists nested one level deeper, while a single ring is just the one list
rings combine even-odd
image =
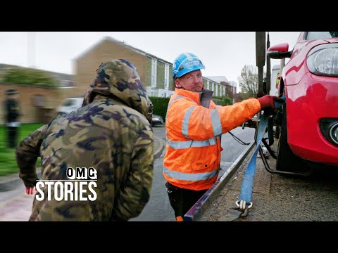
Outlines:
[{"label": "OMG STORIES logo lettering over the camouflage jacket", "polygon": [[[51,200],[51,189],[54,188],[54,199],[61,200],[79,200],[79,201],[94,201],[97,194],[94,188],[97,187],[97,171],[93,167],[68,167],[66,170],[68,179],[62,180],[37,180],[37,193],[35,198],[38,201],[44,200],[45,193],[47,200]],[[90,193],[87,194],[87,189]]]}]

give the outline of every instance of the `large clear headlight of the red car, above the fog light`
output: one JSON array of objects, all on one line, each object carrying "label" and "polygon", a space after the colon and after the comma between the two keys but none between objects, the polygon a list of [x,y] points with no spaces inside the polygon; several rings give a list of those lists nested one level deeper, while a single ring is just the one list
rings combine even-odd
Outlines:
[{"label": "large clear headlight of the red car, above the fog light", "polygon": [[308,53],[306,64],[313,74],[338,77],[338,44],[315,46]]}]

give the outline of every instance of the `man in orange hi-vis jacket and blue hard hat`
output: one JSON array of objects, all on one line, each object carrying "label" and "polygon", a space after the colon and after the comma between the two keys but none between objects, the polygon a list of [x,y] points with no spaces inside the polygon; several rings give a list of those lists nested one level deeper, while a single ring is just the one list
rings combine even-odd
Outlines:
[{"label": "man in orange hi-vis jacket and blue hard hat", "polygon": [[167,180],[176,221],[211,188],[220,169],[220,136],[248,121],[264,108],[274,108],[275,96],[250,98],[234,105],[213,103],[204,88],[204,64],[193,53],[182,53],[173,64],[175,93],[170,97],[165,129],[163,176]]}]

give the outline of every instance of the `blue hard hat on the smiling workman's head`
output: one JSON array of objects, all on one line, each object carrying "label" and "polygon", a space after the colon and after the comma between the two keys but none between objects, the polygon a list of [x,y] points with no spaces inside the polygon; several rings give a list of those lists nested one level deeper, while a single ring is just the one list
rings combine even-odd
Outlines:
[{"label": "blue hard hat on the smiling workman's head", "polygon": [[181,53],[174,60],[173,78],[182,77],[183,74],[201,69],[204,69],[204,64],[194,53]]}]

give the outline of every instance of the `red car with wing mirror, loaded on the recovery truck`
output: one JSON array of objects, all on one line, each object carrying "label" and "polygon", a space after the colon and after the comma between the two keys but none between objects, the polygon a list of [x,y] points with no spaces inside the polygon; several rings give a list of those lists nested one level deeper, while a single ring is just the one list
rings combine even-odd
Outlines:
[{"label": "red car with wing mirror, loaded on the recovery truck", "polygon": [[278,87],[286,103],[276,169],[338,168],[338,32],[301,32],[292,51],[284,43],[267,53],[273,59],[290,58]]}]

